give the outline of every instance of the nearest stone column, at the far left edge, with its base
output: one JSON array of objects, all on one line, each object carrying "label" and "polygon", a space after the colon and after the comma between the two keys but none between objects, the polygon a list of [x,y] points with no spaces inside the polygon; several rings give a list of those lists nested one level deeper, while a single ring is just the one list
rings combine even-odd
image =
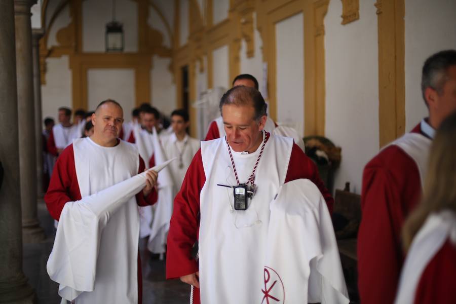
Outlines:
[{"label": "nearest stone column, at the far left edge, with its base", "polygon": [[21,191],[13,1],[0,1],[0,302],[33,303],[22,272]]}]

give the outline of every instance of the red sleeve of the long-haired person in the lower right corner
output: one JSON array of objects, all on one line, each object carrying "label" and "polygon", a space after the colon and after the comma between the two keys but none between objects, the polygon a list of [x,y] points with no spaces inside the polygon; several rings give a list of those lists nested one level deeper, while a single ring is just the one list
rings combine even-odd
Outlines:
[{"label": "red sleeve of the long-haired person in the lower right corner", "polygon": [[456,303],[456,248],[449,240],[426,266],[416,287],[414,304]]}]

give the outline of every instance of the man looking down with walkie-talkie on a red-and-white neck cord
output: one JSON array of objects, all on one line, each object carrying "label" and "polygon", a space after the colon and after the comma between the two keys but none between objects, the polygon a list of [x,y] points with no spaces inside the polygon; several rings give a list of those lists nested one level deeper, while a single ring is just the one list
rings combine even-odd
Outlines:
[{"label": "man looking down with walkie-talkie on a red-and-white neck cord", "polygon": [[[319,189],[310,181],[315,180],[322,187],[316,165],[292,138],[264,131],[266,107],[261,94],[254,88],[236,86],[223,95],[220,109],[226,137],[201,142],[201,149],[192,160],[174,200],[166,276],[168,279],[180,278],[197,287],[194,289],[195,303],[199,302],[200,291],[203,303],[260,303],[264,299],[266,290],[261,293],[261,286],[272,283],[262,275],[266,265],[266,240],[273,238],[268,235],[268,223],[278,212],[270,209],[269,202],[287,182],[306,179],[300,182],[312,198],[294,197],[297,205],[293,206],[303,209],[318,206],[320,211],[314,219],[317,218],[325,231],[332,234],[329,239],[334,240],[332,245],[323,245],[323,251],[333,248],[337,252],[328,209]],[[294,216],[297,218],[297,213]],[[284,236],[307,233],[312,237],[304,237],[306,240],[320,240],[318,230],[302,231],[292,224],[282,232]],[[294,239],[295,245],[305,242],[301,237]],[[328,240],[326,236],[321,238]],[[197,240],[199,264],[191,258],[192,246]],[[271,243],[276,244],[276,241],[271,240]],[[313,247],[311,243],[307,243],[308,248]],[[278,247],[293,251],[286,245]],[[288,262],[295,263],[294,268],[312,268],[309,264],[301,268],[302,263],[308,262],[308,257],[296,254]],[[339,257],[335,254],[329,260],[334,266],[331,268],[334,270],[333,282],[338,281],[342,278]],[[288,279],[288,284],[301,284],[301,281],[294,281],[293,276],[288,277],[289,271],[282,270],[281,276]],[[324,282],[324,278],[322,274],[319,282]],[[341,285],[345,286],[345,283]],[[333,290],[339,290],[340,286]],[[292,292],[287,297],[292,298],[290,302],[297,302],[296,296],[305,299],[302,293],[302,290]],[[318,302],[319,296],[321,294],[313,299]],[[327,298],[332,298],[332,294],[327,294]]]}]

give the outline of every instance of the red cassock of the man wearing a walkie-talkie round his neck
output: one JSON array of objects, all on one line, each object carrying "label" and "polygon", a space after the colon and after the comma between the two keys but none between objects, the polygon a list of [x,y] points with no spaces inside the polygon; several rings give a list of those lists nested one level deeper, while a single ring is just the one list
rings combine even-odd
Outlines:
[{"label": "red cassock of the man wearing a walkie-talkie round his neck", "polygon": [[[301,148],[293,144],[285,182],[307,178],[320,189],[328,209],[332,212],[334,200],[318,175],[314,162]],[[167,242],[166,277],[180,278],[198,271],[198,263],[191,257],[192,246],[198,239],[200,192],[206,182],[201,149],[192,160],[185,175],[182,187],[174,199]],[[195,288],[195,298],[199,299],[199,289]],[[196,302],[194,302],[196,304]]]}]

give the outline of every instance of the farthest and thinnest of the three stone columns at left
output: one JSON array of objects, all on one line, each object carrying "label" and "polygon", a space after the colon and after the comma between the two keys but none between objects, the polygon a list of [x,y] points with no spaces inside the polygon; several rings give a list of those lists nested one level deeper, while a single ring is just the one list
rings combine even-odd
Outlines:
[{"label": "farthest and thinnest of the three stone columns at left", "polygon": [[33,101],[35,110],[36,194],[43,199],[43,123],[41,110],[40,39],[43,30],[32,30]]}]

